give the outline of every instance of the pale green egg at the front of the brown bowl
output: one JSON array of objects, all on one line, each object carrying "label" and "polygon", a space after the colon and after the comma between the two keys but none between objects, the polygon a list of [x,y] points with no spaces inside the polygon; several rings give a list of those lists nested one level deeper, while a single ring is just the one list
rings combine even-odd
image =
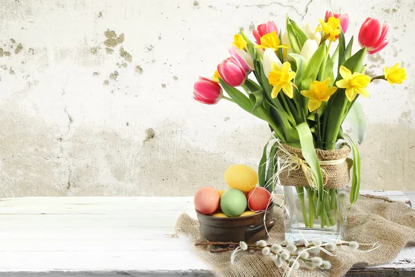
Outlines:
[{"label": "pale green egg at the front of the brown bowl", "polygon": [[226,190],[221,197],[221,209],[229,217],[237,217],[246,210],[246,197],[241,190]]}]

